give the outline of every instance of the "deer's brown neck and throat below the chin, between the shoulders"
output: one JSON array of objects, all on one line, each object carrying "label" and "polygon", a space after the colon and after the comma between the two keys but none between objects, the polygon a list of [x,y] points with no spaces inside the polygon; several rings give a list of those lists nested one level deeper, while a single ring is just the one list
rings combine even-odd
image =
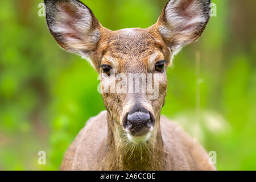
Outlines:
[{"label": "deer's brown neck and throat below the chin, between the shoulders", "polygon": [[[159,122],[157,122],[159,123]],[[160,126],[150,141],[131,143],[108,113],[108,152],[106,170],[163,170],[164,152]]]}]

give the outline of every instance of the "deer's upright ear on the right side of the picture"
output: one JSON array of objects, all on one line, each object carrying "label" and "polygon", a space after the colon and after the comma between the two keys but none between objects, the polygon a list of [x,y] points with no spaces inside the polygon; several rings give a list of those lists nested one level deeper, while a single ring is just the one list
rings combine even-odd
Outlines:
[{"label": "deer's upright ear on the right side of the picture", "polygon": [[210,0],[170,0],[156,27],[175,54],[197,40],[209,20]]}]

